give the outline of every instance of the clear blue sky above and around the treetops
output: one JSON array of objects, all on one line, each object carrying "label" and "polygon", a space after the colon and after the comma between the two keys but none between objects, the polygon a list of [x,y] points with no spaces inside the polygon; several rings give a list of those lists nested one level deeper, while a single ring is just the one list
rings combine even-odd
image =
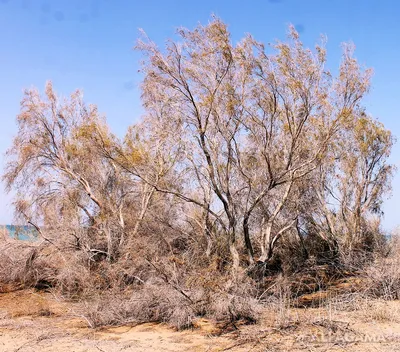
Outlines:
[{"label": "clear blue sky above and around the treetops", "polygon": [[[46,80],[69,94],[85,92],[122,135],[140,118],[140,55],[132,48],[143,28],[158,44],[179,26],[193,28],[215,13],[234,40],[244,33],[271,42],[294,24],[306,45],[328,37],[328,62],[340,60],[340,43],[353,41],[356,56],[373,67],[366,105],[395,136],[400,135],[400,2],[395,0],[0,0],[0,167],[16,133],[22,90],[43,89]],[[400,143],[400,142],[399,142]],[[400,147],[392,162],[399,166]],[[400,169],[400,168],[399,168]],[[385,202],[384,226],[400,225],[400,175]],[[10,197],[0,185],[0,224],[12,221]]]}]

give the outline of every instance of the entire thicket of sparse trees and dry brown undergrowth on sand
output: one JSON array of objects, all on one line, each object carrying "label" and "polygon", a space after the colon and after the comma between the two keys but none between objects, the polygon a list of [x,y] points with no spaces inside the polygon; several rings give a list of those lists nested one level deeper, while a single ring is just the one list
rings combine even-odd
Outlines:
[{"label": "entire thicket of sparse trees and dry brown undergrowth on sand", "polygon": [[2,240],[1,290],[85,302],[91,327],[235,328],[269,305],[285,322],[362,273],[363,295],[397,299],[380,230],[393,140],[362,105],[371,72],[353,48],[334,77],[324,43],[293,28],[271,50],[233,45],[219,19],[178,34],[165,51],[139,41],[146,113],[122,140],[79,91],[25,92],[3,179],[39,240]]}]

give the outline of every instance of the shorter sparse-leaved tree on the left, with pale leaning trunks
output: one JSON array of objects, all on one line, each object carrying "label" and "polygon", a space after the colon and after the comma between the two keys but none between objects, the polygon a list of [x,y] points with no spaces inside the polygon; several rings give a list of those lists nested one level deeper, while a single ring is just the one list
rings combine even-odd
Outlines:
[{"label": "shorter sparse-leaved tree on the left, with pale leaning trunks", "polygon": [[48,241],[72,236],[76,247],[111,259],[124,233],[126,184],[106,157],[115,137],[97,108],[79,91],[58,97],[48,82],[44,97],[25,91],[17,124],[3,177],[17,192],[17,215]]}]

